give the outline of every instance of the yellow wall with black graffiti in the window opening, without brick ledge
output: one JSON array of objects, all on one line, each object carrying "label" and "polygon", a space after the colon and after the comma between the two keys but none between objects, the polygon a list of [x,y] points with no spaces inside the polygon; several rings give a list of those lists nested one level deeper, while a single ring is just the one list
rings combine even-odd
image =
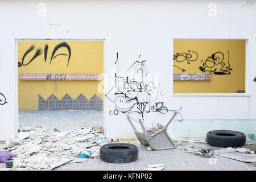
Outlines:
[{"label": "yellow wall with black graffiti in the window opening, without brick ledge", "polygon": [[174,81],[174,93],[245,92],[245,40],[174,39],[174,73],[210,73],[209,81]]}]

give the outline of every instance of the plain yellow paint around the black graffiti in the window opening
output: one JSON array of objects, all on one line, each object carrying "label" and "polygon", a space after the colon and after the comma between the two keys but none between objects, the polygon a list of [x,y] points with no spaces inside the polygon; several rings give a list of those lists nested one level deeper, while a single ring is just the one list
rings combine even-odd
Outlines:
[{"label": "plain yellow paint around the black graffiti in the window opening", "polygon": [[[211,72],[210,81],[174,81],[174,93],[237,93],[237,90],[245,90],[245,40],[229,39],[174,39],[174,55],[195,51],[198,55],[196,61],[177,63],[186,71],[183,73],[209,73],[200,71],[199,67],[213,53],[224,53],[224,63],[228,60],[232,71],[230,75],[215,75]],[[180,69],[173,67],[174,73],[182,73]]]}]

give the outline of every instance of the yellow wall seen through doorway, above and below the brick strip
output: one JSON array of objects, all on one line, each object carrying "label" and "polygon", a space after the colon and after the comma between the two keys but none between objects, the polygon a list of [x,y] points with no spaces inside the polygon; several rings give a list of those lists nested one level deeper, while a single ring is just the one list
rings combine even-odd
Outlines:
[{"label": "yellow wall seen through doorway, above and below the brick strip", "polygon": [[[51,60],[52,51],[57,44],[66,42],[71,47],[71,57],[60,55]],[[48,45],[47,60],[44,61],[44,47]],[[42,49],[42,54],[28,65],[18,68],[19,73],[104,73],[104,42],[88,40],[19,40],[18,61],[22,62],[24,53],[32,45],[35,49],[24,59],[26,64],[34,56],[36,49]],[[67,48],[60,48],[55,53],[68,55]],[[46,100],[55,94],[59,100],[68,93],[74,100],[80,93],[89,100],[95,93],[103,99],[103,93],[97,90],[98,84],[103,81],[94,80],[19,80],[19,110],[38,110],[38,94]]]}]

